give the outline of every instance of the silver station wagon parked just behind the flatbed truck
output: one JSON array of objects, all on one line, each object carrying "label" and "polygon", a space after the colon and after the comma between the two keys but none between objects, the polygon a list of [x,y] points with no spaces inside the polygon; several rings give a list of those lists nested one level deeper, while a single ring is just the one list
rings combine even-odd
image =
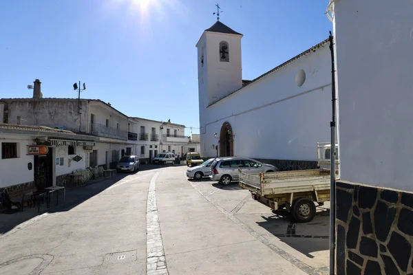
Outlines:
[{"label": "silver station wagon parked just behind the flatbed truck", "polygon": [[269,173],[277,171],[271,164],[263,164],[248,157],[220,157],[211,164],[211,175],[213,181],[220,181],[222,184],[231,184],[231,181],[238,180],[238,168],[244,173]]}]

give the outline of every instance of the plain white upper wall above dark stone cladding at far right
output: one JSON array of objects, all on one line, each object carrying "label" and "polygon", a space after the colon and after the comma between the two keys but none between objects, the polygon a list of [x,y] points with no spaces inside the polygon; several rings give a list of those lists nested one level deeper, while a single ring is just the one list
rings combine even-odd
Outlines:
[{"label": "plain white upper wall above dark stone cladding at far right", "polygon": [[340,178],[413,191],[413,1],[337,1]]}]

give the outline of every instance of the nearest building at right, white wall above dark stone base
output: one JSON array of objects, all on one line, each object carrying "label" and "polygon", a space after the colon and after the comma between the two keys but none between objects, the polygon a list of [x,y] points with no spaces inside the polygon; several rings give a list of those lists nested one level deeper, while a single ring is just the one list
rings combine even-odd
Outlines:
[{"label": "nearest building at right, white wall above dark stone base", "polygon": [[330,1],[337,51],[337,274],[413,274],[413,3]]}]

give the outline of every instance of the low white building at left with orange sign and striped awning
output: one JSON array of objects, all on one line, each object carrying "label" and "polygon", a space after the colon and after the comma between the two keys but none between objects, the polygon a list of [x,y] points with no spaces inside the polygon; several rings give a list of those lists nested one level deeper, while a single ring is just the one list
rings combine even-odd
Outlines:
[{"label": "low white building at left with orange sign and striped awning", "polygon": [[96,140],[45,126],[0,123],[0,188],[12,192],[66,183],[67,174],[86,168]]}]

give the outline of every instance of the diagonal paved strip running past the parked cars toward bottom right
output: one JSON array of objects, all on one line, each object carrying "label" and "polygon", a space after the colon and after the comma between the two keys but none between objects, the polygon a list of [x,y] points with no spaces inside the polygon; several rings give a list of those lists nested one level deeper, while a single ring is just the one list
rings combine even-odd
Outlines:
[{"label": "diagonal paved strip running past the parked cars toward bottom right", "polygon": [[226,217],[231,219],[231,221],[233,221],[234,223],[237,223],[237,225],[240,225],[242,228],[248,231],[249,234],[255,236],[255,238],[257,238],[258,241],[264,243],[264,245],[266,245],[268,248],[271,248],[273,252],[279,254],[279,256],[282,256],[284,259],[286,259],[287,261],[289,261],[290,263],[298,267],[300,270],[306,272],[307,274],[311,274],[311,275],[327,275],[328,274],[328,270],[329,270],[328,267],[321,267],[321,268],[310,267],[310,265],[303,263],[303,261],[295,258],[293,255],[289,254],[285,250],[282,250],[281,248],[277,247],[277,245],[273,245],[273,243],[271,243],[270,241],[265,239],[264,236],[261,236],[258,232],[253,230],[253,228],[249,227],[248,225],[240,221],[240,219],[237,219],[237,217],[235,217],[233,213],[226,211],[224,208],[219,206],[218,203],[216,203],[215,201],[207,197],[207,195],[205,195],[204,192],[202,192],[202,190],[198,188],[198,186],[193,184],[191,181],[188,181],[188,182],[189,184],[191,184],[193,188],[195,188],[195,190],[197,190],[200,193],[200,195],[202,195],[202,197],[204,197],[205,199],[207,199],[207,201],[212,203],[213,206],[218,208],[218,210],[220,210],[223,214],[225,214]]}]

